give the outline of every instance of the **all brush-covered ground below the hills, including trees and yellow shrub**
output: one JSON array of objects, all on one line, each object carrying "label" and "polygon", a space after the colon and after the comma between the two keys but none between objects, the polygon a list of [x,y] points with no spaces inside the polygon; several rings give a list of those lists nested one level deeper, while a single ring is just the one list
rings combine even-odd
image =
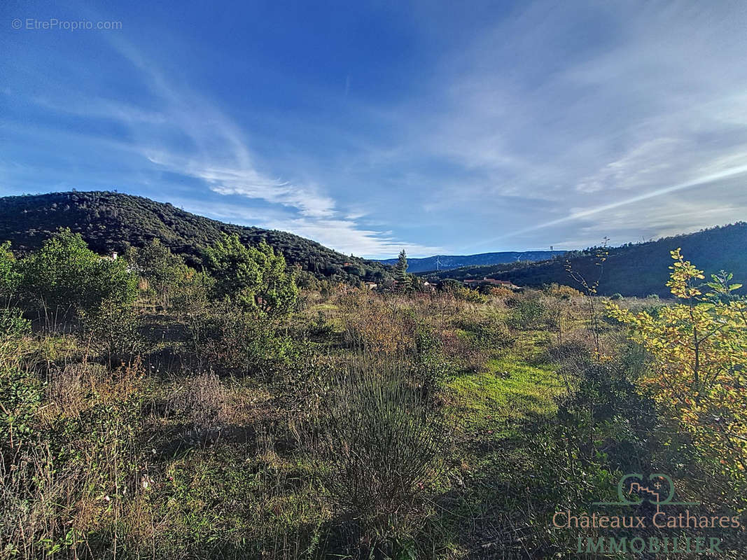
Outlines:
[{"label": "all brush-covered ground below the hills, including trees and yellow shrub", "polygon": [[[0,250],[1,559],[627,558],[554,525],[625,473],[744,519],[746,303],[702,255],[664,264],[670,299],[607,299],[603,261],[379,293],[299,287],[237,236],[199,271],[166,240],[35,246]],[[684,534],[724,552],[678,558],[747,550],[741,525],[635,536]]]}]

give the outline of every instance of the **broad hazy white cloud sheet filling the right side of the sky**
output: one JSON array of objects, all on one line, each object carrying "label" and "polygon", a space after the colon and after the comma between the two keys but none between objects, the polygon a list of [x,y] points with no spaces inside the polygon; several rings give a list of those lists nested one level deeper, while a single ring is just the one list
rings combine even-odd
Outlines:
[{"label": "broad hazy white cloud sheet filling the right side of the sky", "polygon": [[[469,249],[557,244],[580,229],[590,244],[590,220],[622,243],[637,237],[643,202],[645,231],[670,233],[671,208],[681,231],[742,219],[743,182],[725,179],[745,179],[744,25],[734,3],[517,7],[436,73],[429,106],[445,109],[420,113],[412,141],[463,172],[430,208],[446,214],[464,196],[484,218],[495,201],[501,234]],[[678,205],[691,187],[715,207]],[[536,205],[506,207],[505,196]]]}]

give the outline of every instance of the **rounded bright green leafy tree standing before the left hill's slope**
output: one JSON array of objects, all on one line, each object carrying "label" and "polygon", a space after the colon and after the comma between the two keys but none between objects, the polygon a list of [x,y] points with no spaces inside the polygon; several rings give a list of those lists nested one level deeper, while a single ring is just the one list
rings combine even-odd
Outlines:
[{"label": "rounded bright green leafy tree standing before the left hill's slope", "polygon": [[298,296],[294,273],[264,241],[257,248],[249,247],[238,235],[223,234],[206,256],[218,297],[273,317],[287,316],[293,309]]}]

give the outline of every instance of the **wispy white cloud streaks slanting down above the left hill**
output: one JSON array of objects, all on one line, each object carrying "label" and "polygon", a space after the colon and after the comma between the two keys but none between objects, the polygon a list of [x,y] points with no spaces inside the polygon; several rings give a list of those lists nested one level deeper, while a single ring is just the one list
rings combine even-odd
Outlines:
[{"label": "wispy white cloud streaks slanting down above the left hill", "polygon": [[[166,75],[158,72],[155,63],[134,46],[119,39],[113,39],[113,44],[140,69],[152,93],[161,101],[158,111],[141,111],[106,99],[63,110],[88,117],[120,119],[131,126],[135,146],[152,164],[202,181],[217,195],[247,199],[246,204],[234,199],[231,205],[199,202],[193,204],[194,211],[223,219],[233,217],[247,225],[291,231],[341,252],[358,255],[389,257],[401,249],[415,254],[438,249],[403,241],[391,231],[362,227],[356,220],[363,217],[365,211],[351,214],[339,210],[335,199],[324,193],[323,187],[270,175],[260,169],[263,166],[255,163],[247,134],[214,102],[195,90],[171,84]],[[293,170],[284,169],[283,172],[290,175]],[[257,211],[252,209],[252,202],[279,205],[285,211],[267,211],[266,208]]]}]

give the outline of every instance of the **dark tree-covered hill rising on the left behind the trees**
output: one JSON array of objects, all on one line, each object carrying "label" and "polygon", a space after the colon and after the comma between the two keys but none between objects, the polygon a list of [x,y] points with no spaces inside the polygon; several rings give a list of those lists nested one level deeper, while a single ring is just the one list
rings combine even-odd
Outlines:
[{"label": "dark tree-covered hill rising on the left behind the trees", "polygon": [[158,237],[196,266],[202,250],[226,232],[237,233],[251,245],[266,240],[288,263],[318,277],[355,281],[387,274],[386,267],[376,261],[342,255],[285,231],[226,224],[141,196],[96,191],[0,198],[0,242],[10,240],[13,249],[36,249],[62,227],[80,233],[100,253],[121,252],[128,244],[143,246]]}]

